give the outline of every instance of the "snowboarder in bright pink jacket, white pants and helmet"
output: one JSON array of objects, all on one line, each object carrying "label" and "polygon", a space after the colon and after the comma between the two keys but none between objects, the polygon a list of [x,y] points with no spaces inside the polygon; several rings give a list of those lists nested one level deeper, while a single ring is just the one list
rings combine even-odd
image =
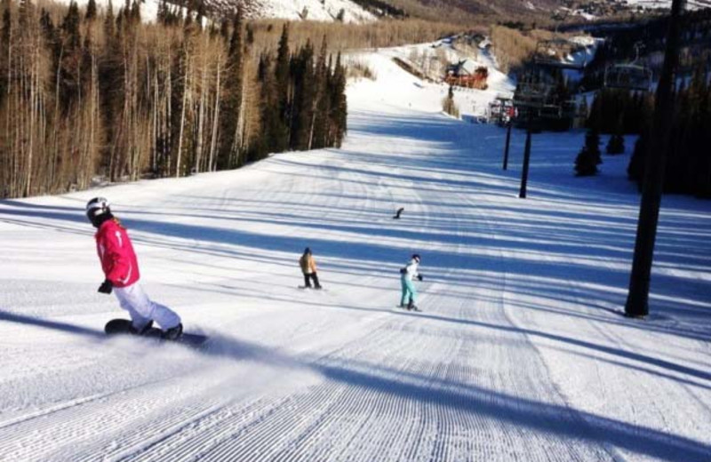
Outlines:
[{"label": "snowboarder in bright pink jacket, white pants and helmet", "polygon": [[183,331],[180,316],[169,307],[151,299],[140,286],[139,262],[133,251],[126,229],[111,213],[108,200],[95,197],[86,204],[86,217],[98,229],[96,250],[105,279],[99,287],[101,293],[116,294],[119,304],[129,312],[132,332],[148,331],[155,321],[163,330],[165,339],[177,339]]}]

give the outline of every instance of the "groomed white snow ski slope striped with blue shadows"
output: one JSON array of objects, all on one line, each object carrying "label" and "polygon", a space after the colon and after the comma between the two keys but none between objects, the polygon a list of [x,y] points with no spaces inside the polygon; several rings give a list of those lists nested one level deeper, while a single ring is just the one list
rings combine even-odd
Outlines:
[{"label": "groomed white snow ski slope striped with blue shadows", "polygon": [[[501,171],[504,131],[367,59],[340,150],[0,201],[0,460],[711,459],[711,205],[665,197],[628,320],[628,156],[576,179],[583,134],[536,135],[518,199],[521,133]],[[96,292],[94,195],[206,348],[104,338],[124,313]],[[324,291],[297,289],[307,245]],[[412,252],[417,314],[395,309]]]}]

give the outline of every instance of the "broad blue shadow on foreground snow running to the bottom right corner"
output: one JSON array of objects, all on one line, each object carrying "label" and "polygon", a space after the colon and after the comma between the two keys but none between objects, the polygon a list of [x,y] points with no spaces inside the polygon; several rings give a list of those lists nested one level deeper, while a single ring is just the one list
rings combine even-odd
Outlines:
[{"label": "broad blue shadow on foreground snow running to the bottom right corner", "polygon": [[[706,461],[711,446],[675,434],[573,410],[564,405],[536,402],[480,386],[462,384],[450,378],[435,378],[391,370],[378,364],[348,361],[348,366],[304,362],[279,351],[238,339],[220,338],[204,354],[238,361],[267,362],[287,368],[315,370],[325,378],[348,386],[395,396],[436,410],[466,412],[561,439],[612,445],[666,460]],[[427,413],[425,413],[428,415]],[[434,415],[443,418],[440,412]],[[601,450],[603,450],[601,448]]]}]

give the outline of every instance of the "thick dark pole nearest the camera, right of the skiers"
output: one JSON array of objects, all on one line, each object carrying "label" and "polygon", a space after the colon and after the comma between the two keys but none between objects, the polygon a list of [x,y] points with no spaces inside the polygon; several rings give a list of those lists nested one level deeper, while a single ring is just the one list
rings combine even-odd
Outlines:
[{"label": "thick dark pole nearest the camera, right of the skiers", "polygon": [[629,280],[629,293],[625,304],[625,315],[644,317],[649,314],[651,264],[654,257],[654,242],[659,223],[664,171],[669,148],[669,133],[674,105],[675,71],[679,64],[679,33],[684,0],[674,0],[667,30],[667,48],[664,52],[664,66],[659,76],[659,86],[654,103],[654,118],[651,142],[644,163],[642,203],[637,222],[635,258]]}]

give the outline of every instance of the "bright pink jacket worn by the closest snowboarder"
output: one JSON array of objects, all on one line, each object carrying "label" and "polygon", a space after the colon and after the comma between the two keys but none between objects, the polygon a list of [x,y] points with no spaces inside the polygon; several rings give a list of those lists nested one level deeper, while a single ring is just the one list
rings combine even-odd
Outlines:
[{"label": "bright pink jacket worn by the closest snowboarder", "polygon": [[96,251],[99,252],[101,269],[115,287],[127,287],[139,278],[139,261],[133,251],[131,239],[118,220],[108,219],[99,227],[96,235]]}]

